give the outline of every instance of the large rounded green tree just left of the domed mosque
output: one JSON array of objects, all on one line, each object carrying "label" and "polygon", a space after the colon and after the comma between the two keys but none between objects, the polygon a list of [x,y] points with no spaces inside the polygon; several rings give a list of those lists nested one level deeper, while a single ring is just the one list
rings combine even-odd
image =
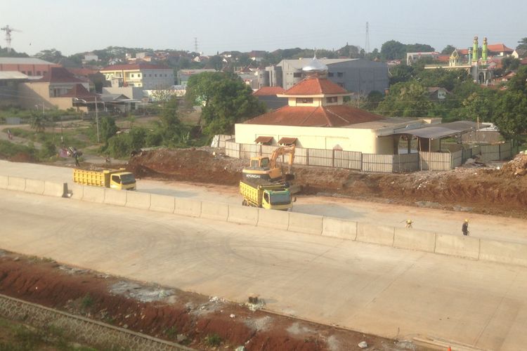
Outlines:
[{"label": "large rounded green tree just left of the domed mosque", "polygon": [[186,98],[202,105],[204,133],[230,134],[234,124],[257,116],[265,107],[240,77],[230,72],[204,72],[188,79]]}]

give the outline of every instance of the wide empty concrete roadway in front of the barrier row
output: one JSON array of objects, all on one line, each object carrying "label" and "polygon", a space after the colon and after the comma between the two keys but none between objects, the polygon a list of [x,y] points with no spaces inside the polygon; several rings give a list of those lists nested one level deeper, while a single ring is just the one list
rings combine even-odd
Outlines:
[{"label": "wide empty concrete roadway in front of the barrier row", "polygon": [[0,248],[390,338],[527,345],[527,268],[0,190]]}]

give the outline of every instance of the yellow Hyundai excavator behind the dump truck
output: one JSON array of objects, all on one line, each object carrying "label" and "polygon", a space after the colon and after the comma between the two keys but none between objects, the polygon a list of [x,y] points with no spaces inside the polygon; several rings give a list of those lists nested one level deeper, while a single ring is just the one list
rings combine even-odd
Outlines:
[{"label": "yellow Hyundai excavator behind the dump truck", "polygon": [[[287,171],[283,171],[282,162],[285,156],[287,159]],[[278,158],[281,157],[282,162],[277,163]],[[243,168],[243,180],[266,180],[270,183],[286,182],[293,180],[292,166],[294,161],[294,145],[280,146],[273,151],[271,157],[251,157],[251,164],[247,168]]]}]

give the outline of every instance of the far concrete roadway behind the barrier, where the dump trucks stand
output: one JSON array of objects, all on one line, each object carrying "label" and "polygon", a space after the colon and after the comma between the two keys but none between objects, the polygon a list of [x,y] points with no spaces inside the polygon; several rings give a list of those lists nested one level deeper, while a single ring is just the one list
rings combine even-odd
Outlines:
[{"label": "far concrete roadway behind the barrier, where the dump trucks stand", "polygon": [[[72,184],[72,168],[67,167],[0,161],[0,175]],[[140,192],[241,204],[241,197],[238,194],[237,187],[161,182],[145,179],[138,180],[137,187]],[[391,227],[404,227],[405,220],[410,218],[413,220],[413,227],[416,229],[460,235],[464,218],[469,218],[469,230],[473,237],[516,241],[527,244],[527,220],[516,218],[318,196],[298,197],[293,211],[318,216],[346,218],[358,222],[375,223]]]}]

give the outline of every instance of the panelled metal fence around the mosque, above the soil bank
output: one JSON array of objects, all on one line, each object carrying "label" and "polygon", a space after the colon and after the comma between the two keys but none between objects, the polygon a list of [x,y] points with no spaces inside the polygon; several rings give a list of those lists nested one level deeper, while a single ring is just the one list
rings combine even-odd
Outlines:
[{"label": "panelled metal fence around the mosque, above the soil bank", "polygon": [[[238,144],[226,140],[225,152],[228,157],[250,159],[251,157],[271,156],[278,146]],[[415,152],[412,154],[363,154],[356,151],[306,149],[297,147],[293,164],[304,166],[324,166],[347,168],[365,172],[403,173],[413,171],[450,171],[461,166],[464,161],[476,154],[483,160],[504,159],[511,156],[510,143],[500,145],[479,145],[464,148],[462,145],[446,145],[445,152]],[[484,156],[483,156],[484,155]],[[287,163],[288,155],[282,161]]]}]

